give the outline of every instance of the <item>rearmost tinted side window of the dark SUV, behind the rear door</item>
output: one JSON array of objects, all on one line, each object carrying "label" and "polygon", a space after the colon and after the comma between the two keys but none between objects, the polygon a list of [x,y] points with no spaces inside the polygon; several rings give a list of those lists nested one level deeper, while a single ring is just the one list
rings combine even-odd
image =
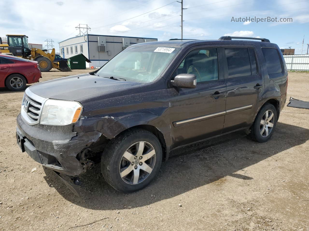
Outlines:
[{"label": "rearmost tinted side window of the dark SUV, behind the rear door", "polygon": [[265,57],[268,74],[280,73],[282,69],[277,49],[262,48],[262,52]]}]

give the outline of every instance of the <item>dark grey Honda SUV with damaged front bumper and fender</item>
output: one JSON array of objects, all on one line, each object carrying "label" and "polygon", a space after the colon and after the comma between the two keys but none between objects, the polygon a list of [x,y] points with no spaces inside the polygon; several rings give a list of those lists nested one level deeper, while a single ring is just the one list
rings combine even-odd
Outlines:
[{"label": "dark grey Honda SUV with damaged front bumper and fender", "polygon": [[269,140],[287,79],[268,39],[135,44],[97,71],[27,88],[17,143],[61,179],[70,176],[64,182],[75,193],[98,157],[108,184],[133,192],[176,148],[238,130]]}]

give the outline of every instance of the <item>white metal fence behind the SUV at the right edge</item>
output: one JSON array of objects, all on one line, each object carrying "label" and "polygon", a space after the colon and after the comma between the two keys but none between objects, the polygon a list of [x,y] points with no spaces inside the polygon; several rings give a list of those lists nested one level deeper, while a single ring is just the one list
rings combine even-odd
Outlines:
[{"label": "white metal fence behind the SUV at the right edge", "polygon": [[309,71],[309,55],[283,55],[287,69]]}]

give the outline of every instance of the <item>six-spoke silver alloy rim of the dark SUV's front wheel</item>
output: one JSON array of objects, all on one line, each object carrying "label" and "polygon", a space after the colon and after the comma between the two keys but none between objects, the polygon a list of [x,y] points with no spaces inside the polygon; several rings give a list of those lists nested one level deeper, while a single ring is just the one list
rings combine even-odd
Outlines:
[{"label": "six-spoke silver alloy rim of the dark SUV's front wheel", "polygon": [[123,153],[119,166],[121,179],[127,184],[139,184],[151,174],[155,167],[156,152],[154,147],[139,141]]}]

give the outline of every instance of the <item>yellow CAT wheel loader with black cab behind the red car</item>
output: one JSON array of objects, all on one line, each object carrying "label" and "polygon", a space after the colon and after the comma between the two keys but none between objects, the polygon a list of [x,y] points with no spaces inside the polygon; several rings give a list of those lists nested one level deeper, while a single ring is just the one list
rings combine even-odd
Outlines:
[{"label": "yellow CAT wheel loader with black cab behind the red car", "polygon": [[0,52],[12,54],[24,59],[31,59],[37,61],[39,68],[42,72],[50,71],[56,68],[60,71],[71,71],[68,64],[61,60],[54,63],[55,49],[53,48],[50,53],[47,50],[41,50],[29,47],[28,36],[22,34],[7,34],[7,44],[2,44],[0,37]]}]

